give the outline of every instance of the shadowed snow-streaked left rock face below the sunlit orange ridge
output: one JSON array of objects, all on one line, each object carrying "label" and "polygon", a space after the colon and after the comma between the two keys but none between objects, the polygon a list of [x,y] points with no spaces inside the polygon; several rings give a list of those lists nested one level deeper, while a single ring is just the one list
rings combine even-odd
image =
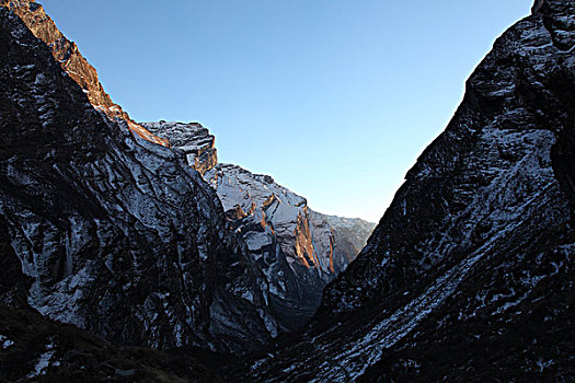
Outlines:
[{"label": "shadowed snow-streaked left rock face below the sunlit orange ridge", "polygon": [[7,8],[0,46],[0,301],[126,345],[267,343],[265,278],[184,156],[94,109]]}]

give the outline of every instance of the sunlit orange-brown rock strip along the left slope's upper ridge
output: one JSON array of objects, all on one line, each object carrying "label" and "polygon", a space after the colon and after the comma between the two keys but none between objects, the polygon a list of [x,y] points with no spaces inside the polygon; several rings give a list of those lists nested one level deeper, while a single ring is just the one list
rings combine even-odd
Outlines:
[{"label": "sunlit orange-brown rock strip along the left slope's upper ridge", "polygon": [[90,103],[112,119],[124,120],[128,128],[139,137],[168,146],[166,140],[152,135],[141,125],[134,123],[122,107],[110,98],[97,80],[97,72],[70,42],[56,27],[54,21],[44,12],[44,8],[34,0],[2,0],[0,7],[5,7],[16,13],[34,36],[42,39],[51,49],[51,54],[62,69],[82,88]]}]

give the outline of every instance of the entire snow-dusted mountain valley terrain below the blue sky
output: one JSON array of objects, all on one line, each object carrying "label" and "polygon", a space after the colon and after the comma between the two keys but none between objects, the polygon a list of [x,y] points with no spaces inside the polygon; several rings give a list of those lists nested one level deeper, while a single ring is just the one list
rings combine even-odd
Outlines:
[{"label": "entire snow-dusted mountain valley terrain below the blue sky", "polygon": [[575,380],[573,0],[495,42],[365,246],[0,5],[0,381]]}]

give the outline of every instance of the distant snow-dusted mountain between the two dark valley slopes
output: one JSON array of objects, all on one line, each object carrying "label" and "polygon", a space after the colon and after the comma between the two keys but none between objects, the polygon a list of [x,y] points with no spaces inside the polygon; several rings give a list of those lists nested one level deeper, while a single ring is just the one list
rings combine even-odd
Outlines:
[{"label": "distant snow-dusted mountain between the two dark valley slopes", "polygon": [[283,330],[304,325],[321,303],[323,288],[356,257],[375,224],[325,216],[306,198],[238,165],[217,163],[215,138],[197,123],[141,123],[182,150],[222,202],[231,230],[269,286],[269,310]]}]

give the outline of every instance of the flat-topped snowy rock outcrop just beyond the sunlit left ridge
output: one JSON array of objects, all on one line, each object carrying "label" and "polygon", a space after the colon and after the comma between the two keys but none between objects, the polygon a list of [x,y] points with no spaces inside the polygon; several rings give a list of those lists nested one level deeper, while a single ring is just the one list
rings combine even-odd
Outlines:
[{"label": "flat-topped snowy rock outcrop just beyond the sunlit left ridge", "polygon": [[186,154],[187,163],[202,175],[218,163],[216,138],[198,123],[141,123],[152,134],[161,135],[172,148]]}]

